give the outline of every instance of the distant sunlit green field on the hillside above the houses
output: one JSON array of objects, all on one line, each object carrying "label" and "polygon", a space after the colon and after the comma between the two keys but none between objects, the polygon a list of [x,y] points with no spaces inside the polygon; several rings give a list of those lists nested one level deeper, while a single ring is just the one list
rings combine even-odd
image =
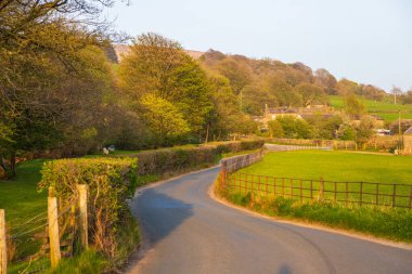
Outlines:
[{"label": "distant sunlit green field on the hillside above the houses", "polygon": [[[412,105],[395,105],[391,102],[379,102],[360,97],[370,114],[381,116],[385,121],[395,121],[398,119],[398,112],[401,109],[402,119],[412,119]],[[337,95],[329,96],[330,103],[336,109],[344,107],[344,97]]]}]

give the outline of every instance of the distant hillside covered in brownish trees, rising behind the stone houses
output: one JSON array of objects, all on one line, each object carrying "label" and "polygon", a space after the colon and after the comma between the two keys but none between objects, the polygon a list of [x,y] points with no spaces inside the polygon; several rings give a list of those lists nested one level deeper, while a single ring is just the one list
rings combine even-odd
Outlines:
[{"label": "distant hillside covered in brownish trees, rising behind the stone houses", "polygon": [[[114,63],[119,63],[129,51],[128,44],[113,44],[107,56]],[[370,114],[381,116],[388,122],[398,118],[399,107],[402,108],[403,119],[412,119],[411,105],[395,105],[391,103],[392,95],[384,90],[370,83],[336,79],[324,68],[312,70],[299,62],[288,64],[272,58],[257,60],[215,50],[184,51],[198,60],[210,77],[220,76],[215,81],[229,84],[230,91],[239,97],[242,110],[252,116],[263,115],[266,105],[310,107],[330,104],[339,109],[343,108],[345,94],[356,94],[362,99]],[[399,97],[399,102],[402,101]]]}]

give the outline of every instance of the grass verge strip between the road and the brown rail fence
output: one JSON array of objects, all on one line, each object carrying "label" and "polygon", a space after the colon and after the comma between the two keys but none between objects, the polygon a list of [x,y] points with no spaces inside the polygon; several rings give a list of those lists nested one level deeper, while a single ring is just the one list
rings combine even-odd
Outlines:
[{"label": "grass verge strip between the road and the brown rail fence", "polygon": [[237,206],[271,217],[412,243],[412,211],[407,209],[344,207],[322,200],[300,204],[283,197],[252,198],[250,193],[220,193],[219,196]]}]

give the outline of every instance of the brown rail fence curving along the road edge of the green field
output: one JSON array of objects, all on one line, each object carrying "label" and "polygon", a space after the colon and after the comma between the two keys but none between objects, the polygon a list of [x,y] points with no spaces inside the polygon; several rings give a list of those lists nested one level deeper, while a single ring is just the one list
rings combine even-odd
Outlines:
[{"label": "brown rail fence curving along the road edge of the green field", "polygon": [[278,178],[235,172],[261,160],[261,152],[222,162],[220,190],[244,195],[287,197],[296,200],[327,200],[336,204],[373,205],[412,209],[412,185],[372,182],[334,182]]}]

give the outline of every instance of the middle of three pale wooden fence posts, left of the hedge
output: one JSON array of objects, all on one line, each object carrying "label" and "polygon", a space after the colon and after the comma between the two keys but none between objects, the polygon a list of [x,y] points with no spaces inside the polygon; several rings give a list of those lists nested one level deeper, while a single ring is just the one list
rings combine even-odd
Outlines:
[{"label": "middle of three pale wooden fence posts, left of the hedge", "polygon": [[57,214],[57,198],[48,197],[48,222],[49,222],[49,245],[50,245],[50,261],[51,266],[55,268],[62,258],[60,252],[59,238],[59,214]]}]

